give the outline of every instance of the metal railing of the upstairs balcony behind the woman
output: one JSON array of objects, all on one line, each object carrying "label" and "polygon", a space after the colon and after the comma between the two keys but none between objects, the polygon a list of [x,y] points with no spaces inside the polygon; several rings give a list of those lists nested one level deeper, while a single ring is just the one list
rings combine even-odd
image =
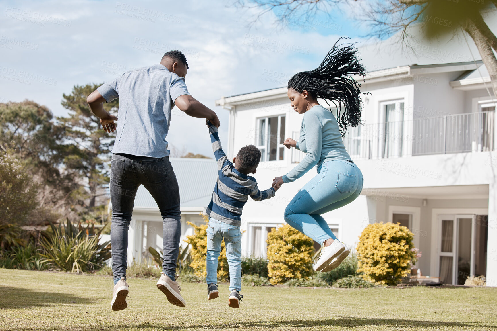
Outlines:
[{"label": "metal railing of the upstairs balcony behind the woman", "polygon": [[353,159],[494,150],[495,111],[349,128],[343,143]]}]

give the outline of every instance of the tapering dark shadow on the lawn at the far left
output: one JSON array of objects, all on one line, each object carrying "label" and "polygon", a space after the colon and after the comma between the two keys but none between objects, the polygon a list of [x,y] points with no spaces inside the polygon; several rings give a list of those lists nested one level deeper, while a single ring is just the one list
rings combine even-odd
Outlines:
[{"label": "tapering dark shadow on the lawn at the far left", "polygon": [[38,292],[28,288],[0,286],[0,309],[23,309],[56,304],[90,304],[93,300],[67,293]]}]

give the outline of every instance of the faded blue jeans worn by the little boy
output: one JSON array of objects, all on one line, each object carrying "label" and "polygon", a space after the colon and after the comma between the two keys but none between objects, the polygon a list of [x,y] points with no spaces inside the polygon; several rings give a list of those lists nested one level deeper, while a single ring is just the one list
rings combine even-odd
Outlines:
[{"label": "faded blue jeans worn by the little boy", "polygon": [[242,289],[242,233],[240,227],[209,218],[207,224],[207,284],[217,284],[221,242],[226,245],[230,267],[230,291]]}]

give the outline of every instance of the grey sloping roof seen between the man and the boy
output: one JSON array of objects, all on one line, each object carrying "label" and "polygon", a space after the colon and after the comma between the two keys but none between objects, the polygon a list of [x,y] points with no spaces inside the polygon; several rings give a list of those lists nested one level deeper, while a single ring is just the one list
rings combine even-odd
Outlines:
[{"label": "grey sloping roof seen between the man and the boy", "polygon": [[[181,208],[206,208],[211,201],[218,175],[216,160],[170,158],[170,161],[178,180]],[[156,201],[143,185],[138,188],[134,207],[159,209]]]}]

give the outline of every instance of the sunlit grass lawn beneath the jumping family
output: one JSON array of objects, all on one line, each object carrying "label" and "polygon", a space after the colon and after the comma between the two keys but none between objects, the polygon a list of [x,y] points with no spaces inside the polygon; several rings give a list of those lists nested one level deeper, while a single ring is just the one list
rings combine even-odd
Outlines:
[{"label": "sunlit grass lawn beneath the jumping family", "polygon": [[110,309],[112,278],[0,268],[0,330],[497,330],[497,288],[289,288],[181,283],[185,308],[156,281],[128,279],[128,308]]}]

